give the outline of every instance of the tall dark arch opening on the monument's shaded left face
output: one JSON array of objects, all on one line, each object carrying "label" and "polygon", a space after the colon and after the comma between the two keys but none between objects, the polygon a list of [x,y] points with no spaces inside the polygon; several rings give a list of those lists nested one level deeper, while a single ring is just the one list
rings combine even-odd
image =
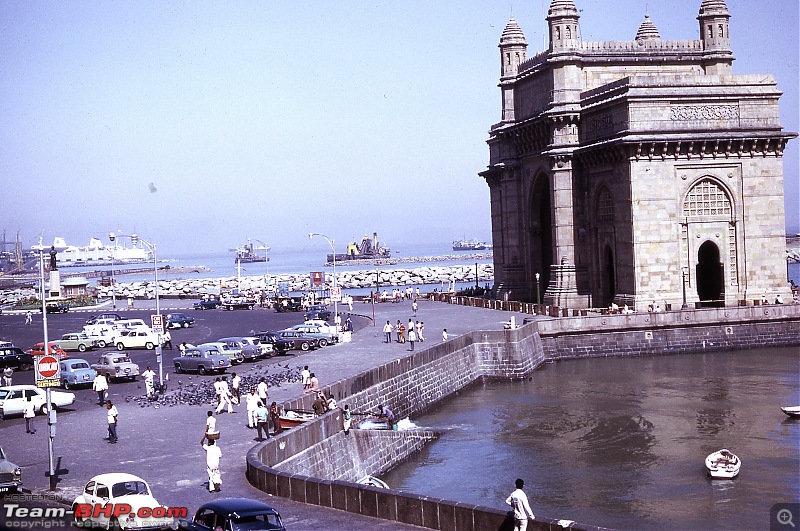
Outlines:
[{"label": "tall dark arch opening on the monument's shaded left face", "polygon": [[553,263],[553,216],[550,179],[542,173],[536,176],[531,192],[530,248],[531,277],[535,278],[536,273],[540,274],[539,285],[543,300],[544,292],[550,285],[550,266]]}]

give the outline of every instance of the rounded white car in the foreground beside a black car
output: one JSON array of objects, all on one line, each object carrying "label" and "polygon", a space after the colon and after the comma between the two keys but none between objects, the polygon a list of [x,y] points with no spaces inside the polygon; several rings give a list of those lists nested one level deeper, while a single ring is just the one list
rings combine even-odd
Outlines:
[{"label": "rounded white car in the foreground beside a black car", "polygon": [[[126,506],[129,510],[126,514],[114,516],[113,511],[97,510],[103,506]],[[155,511],[156,508],[162,509]],[[157,518],[153,513],[164,513],[168,516]],[[175,511],[158,503],[145,480],[122,472],[93,477],[72,502],[72,514],[77,527],[174,529],[177,527],[175,518],[171,516],[174,513]],[[185,511],[181,514],[185,514]]]}]

